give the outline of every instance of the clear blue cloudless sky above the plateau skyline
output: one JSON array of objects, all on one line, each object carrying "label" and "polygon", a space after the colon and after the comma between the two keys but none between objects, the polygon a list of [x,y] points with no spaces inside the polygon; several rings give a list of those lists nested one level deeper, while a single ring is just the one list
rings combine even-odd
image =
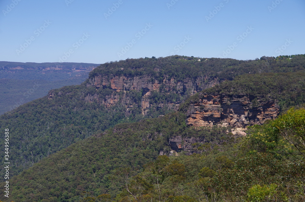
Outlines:
[{"label": "clear blue cloudless sky above the plateau skyline", "polygon": [[304,0],[0,0],[0,61],[305,53]]}]

